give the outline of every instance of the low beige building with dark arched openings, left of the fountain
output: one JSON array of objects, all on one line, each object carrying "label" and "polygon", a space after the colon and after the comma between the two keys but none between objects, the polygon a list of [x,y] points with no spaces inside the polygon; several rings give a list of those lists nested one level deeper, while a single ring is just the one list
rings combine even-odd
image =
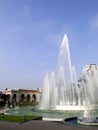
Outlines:
[{"label": "low beige building with dark arched openings, left of the fountain", "polygon": [[36,102],[39,103],[41,91],[39,89],[7,89],[5,94],[8,97],[8,101],[11,102]]}]

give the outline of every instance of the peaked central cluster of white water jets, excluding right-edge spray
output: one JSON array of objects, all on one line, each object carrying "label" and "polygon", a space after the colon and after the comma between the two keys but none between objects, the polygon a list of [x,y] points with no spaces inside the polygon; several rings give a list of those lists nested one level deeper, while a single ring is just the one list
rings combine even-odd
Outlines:
[{"label": "peaked central cluster of white water jets, excluding right-edge spray", "polygon": [[[42,108],[47,109],[56,108],[56,106],[78,104],[77,98],[79,98],[79,92],[76,82],[76,73],[75,69],[74,71],[72,70],[69,43],[66,34],[60,46],[57,71],[52,72],[52,74],[45,79],[47,79],[47,81],[44,80],[45,83],[43,85]],[[76,93],[78,93],[77,98],[75,97]],[[44,99],[47,101],[44,101]],[[48,105],[45,105],[45,102],[47,102]]]}]

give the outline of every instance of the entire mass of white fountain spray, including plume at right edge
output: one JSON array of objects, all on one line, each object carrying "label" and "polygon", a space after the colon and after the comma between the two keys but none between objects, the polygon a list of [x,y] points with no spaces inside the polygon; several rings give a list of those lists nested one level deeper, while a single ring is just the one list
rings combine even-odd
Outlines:
[{"label": "entire mass of white fountain spray, including plume at right edge", "polygon": [[95,104],[98,99],[95,97],[95,91],[98,92],[97,77],[96,65],[90,65],[83,69],[80,81],[77,80],[75,68],[71,65],[68,37],[65,34],[60,46],[57,71],[44,77],[40,109]]}]

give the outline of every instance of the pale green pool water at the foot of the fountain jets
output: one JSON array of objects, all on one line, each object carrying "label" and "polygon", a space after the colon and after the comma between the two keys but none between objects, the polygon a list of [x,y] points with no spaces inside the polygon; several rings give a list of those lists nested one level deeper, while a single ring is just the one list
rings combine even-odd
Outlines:
[{"label": "pale green pool water at the foot of the fountain jets", "polygon": [[81,116],[82,111],[56,111],[56,110],[36,110],[32,109],[32,106],[29,107],[21,107],[10,109],[6,112],[9,115],[35,115],[35,116],[43,116],[48,118],[68,118],[73,116]]}]

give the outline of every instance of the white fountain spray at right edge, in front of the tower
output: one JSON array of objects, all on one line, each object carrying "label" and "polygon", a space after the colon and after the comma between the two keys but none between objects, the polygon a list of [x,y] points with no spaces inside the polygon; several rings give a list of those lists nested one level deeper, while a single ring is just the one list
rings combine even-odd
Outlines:
[{"label": "white fountain spray at right edge, in front of the tower", "polygon": [[[86,65],[82,71],[82,90],[87,104],[98,103],[98,67],[95,64]],[[82,99],[84,100],[84,99]]]}]

